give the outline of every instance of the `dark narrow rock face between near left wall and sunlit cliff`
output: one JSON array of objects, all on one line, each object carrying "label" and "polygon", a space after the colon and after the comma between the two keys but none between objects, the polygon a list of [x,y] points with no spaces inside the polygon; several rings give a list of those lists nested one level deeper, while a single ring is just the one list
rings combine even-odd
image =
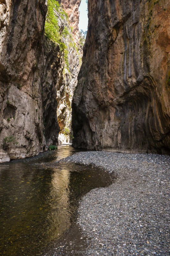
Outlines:
[{"label": "dark narrow rock face between near left wall and sunlit cliff", "polygon": [[46,39],[44,47],[44,72],[42,76],[42,106],[44,135],[47,145],[58,143],[60,127],[57,121],[56,91],[64,68],[63,52],[60,47]]}]

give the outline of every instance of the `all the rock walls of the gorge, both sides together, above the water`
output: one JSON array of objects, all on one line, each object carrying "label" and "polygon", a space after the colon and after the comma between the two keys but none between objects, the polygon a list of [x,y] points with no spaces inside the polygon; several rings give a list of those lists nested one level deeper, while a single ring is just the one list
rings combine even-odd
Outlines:
[{"label": "all the rock walls of the gorge, both sides together, above the water", "polygon": [[89,0],[85,44],[80,3],[0,5],[0,162],[72,141],[169,154],[170,1]]}]

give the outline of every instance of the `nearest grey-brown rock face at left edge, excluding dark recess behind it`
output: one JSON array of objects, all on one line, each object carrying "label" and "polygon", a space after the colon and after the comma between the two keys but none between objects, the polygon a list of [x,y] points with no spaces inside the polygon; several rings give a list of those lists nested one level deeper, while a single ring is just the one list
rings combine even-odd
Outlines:
[{"label": "nearest grey-brown rock face at left edge, excluding dark recess behind it", "polygon": [[[46,12],[45,0],[0,2],[0,148],[11,159],[34,156],[46,146],[41,99]],[[5,159],[6,153],[1,152]]]}]

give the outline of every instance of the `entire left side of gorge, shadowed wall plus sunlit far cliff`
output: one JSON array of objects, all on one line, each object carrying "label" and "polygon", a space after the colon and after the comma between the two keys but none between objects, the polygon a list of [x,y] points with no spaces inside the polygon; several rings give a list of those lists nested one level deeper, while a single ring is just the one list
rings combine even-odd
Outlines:
[{"label": "entire left side of gorge, shadowed wall plus sunlit far cliff", "polygon": [[71,140],[79,53],[70,25],[57,1],[0,1],[0,162],[56,145],[66,125]]}]

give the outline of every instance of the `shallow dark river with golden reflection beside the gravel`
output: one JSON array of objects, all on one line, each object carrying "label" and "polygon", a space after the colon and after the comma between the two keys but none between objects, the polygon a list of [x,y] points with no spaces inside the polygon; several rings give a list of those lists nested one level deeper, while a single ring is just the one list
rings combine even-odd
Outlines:
[{"label": "shallow dark river with golden reflection beside the gravel", "polygon": [[56,162],[77,151],[59,146],[0,164],[0,255],[42,255],[74,223],[80,197],[112,183],[92,166]]}]

